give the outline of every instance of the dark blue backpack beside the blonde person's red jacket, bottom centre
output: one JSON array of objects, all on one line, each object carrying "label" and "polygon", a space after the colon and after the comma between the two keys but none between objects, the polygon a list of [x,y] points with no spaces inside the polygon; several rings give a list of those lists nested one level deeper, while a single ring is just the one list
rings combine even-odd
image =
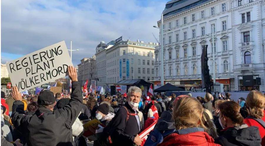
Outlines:
[{"label": "dark blue backpack beside the blonde person's red jacket, bottom centre", "polygon": [[162,134],[158,129],[154,129],[152,130],[145,143],[144,146],[156,146],[158,144],[160,144],[161,142],[163,142],[164,137],[168,136],[169,134],[171,134],[174,131],[174,129],[170,129],[170,130],[165,130],[164,133]]}]

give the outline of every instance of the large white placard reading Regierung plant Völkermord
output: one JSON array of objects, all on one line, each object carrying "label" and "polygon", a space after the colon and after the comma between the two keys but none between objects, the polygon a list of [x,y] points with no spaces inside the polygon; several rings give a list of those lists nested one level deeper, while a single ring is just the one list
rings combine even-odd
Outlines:
[{"label": "large white placard reading Regierung plant V\u00f6lkermord", "polygon": [[53,44],[6,63],[13,86],[19,92],[41,86],[66,75],[73,66],[65,42]]}]

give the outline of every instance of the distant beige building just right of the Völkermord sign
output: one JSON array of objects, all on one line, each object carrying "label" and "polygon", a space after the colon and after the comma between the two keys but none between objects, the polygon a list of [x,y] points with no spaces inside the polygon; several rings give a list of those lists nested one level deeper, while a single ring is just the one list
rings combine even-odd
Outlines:
[{"label": "distant beige building just right of the V\u00f6lkermord sign", "polygon": [[81,85],[84,85],[88,80],[88,88],[91,85],[91,80],[96,80],[96,56],[91,58],[81,59],[81,63],[78,66],[78,81]]}]

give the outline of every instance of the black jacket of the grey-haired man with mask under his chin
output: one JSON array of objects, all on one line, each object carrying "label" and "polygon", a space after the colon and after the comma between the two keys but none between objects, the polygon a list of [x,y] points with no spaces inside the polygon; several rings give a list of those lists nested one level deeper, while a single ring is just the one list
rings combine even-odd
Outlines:
[{"label": "black jacket of the grey-haired man with mask under his chin", "polygon": [[[128,102],[124,105],[129,113],[135,113]],[[103,132],[109,132],[113,145],[115,146],[132,146],[135,136],[140,132],[136,117],[130,115],[127,118],[125,108],[119,108],[115,117],[109,122],[108,128],[104,128]]]}]

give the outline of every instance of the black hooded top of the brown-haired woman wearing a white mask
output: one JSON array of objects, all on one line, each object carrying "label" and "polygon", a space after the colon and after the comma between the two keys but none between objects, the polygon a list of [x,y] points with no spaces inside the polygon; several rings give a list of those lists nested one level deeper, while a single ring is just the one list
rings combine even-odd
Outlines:
[{"label": "black hooded top of the brown-haired woman wearing a white mask", "polygon": [[229,128],[215,140],[215,143],[222,146],[260,146],[259,128],[247,127],[246,124]]}]

